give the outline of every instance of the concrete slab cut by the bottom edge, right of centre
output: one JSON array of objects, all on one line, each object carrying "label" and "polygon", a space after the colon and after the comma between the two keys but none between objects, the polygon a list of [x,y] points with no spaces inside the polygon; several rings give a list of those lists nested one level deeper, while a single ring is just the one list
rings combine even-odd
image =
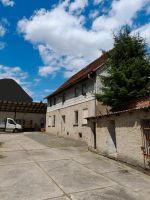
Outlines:
[{"label": "concrete slab cut by the bottom edge, right of centre", "polygon": [[[141,200],[141,195],[120,186],[71,194],[72,200]],[[144,200],[144,199],[142,199]],[[146,200],[146,199],[145,199]]]}]

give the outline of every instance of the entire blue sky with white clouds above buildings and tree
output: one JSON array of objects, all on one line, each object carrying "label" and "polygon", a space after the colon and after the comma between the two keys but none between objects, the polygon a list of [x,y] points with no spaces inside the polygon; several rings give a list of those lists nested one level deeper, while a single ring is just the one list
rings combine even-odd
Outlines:
[{"label": "entire blue sky with white clouds above buildings and tree", "polygon": [[41,101],[126,24],[150,46],[150,0],[0,0],[0,78]]}]

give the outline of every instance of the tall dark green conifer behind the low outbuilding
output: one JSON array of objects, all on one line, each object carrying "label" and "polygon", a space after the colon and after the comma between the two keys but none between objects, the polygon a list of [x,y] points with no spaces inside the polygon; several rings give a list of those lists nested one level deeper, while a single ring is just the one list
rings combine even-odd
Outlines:
[{"label": "tall dark green conifer behind the low outbuilding", "polygon": [[150,95],[150,60],[147,44],[139,34],[131,35],[128,27],[114,35],[114,48],[107,53],[107,76],[101,76],[99,101],[112,108]]}]

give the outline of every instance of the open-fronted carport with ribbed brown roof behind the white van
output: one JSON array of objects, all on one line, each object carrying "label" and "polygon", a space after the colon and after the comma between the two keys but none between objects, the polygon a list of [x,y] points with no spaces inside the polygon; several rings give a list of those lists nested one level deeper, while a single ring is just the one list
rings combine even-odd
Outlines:
[{"label": "open-fronted carport with ribbed brown roof behind the white van", "polygon": [[13,118],[24,130],[39,130],[45,127],[46,103],[14,102],[0,100],[0,119]]}]

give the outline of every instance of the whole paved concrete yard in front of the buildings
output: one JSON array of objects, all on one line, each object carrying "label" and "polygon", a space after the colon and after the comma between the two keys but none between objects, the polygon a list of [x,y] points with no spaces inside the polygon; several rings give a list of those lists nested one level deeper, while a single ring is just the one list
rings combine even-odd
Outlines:
[{"label": "whole paved concrete yard in front of the buildings", "polygon": [[42,133],[0,134],[1,200],[148,200],[150,177]]}]

